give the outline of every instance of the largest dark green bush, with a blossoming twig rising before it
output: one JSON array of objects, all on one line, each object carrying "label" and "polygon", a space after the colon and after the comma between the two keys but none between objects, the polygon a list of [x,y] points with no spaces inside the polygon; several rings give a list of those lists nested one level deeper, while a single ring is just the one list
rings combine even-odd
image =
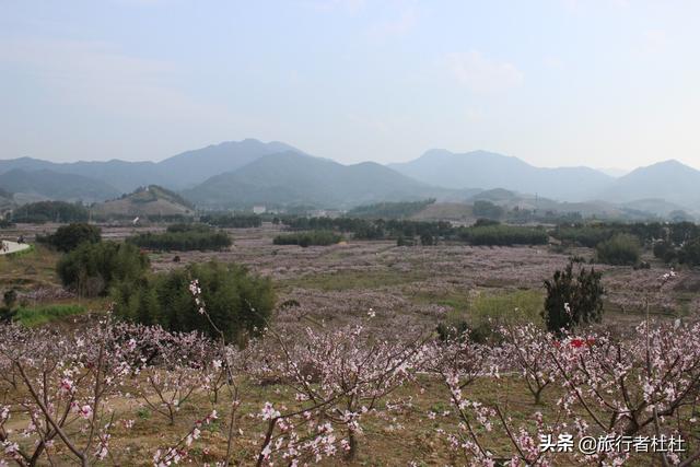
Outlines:
[{"label": "largest dark green bush, with a blossoming twig rising before it", "polygon": [[112,290],[115,314],[136,323],[161,325],[173,331],[199,330],[217,338],[189,292],[192,279],[199,280],[207,313],[226,339],[242,342],[246,335],[267,326],[275,306],[271,281],[250,275],[244,267],[218,262],[154,275],[136,287],[117,283]]}]

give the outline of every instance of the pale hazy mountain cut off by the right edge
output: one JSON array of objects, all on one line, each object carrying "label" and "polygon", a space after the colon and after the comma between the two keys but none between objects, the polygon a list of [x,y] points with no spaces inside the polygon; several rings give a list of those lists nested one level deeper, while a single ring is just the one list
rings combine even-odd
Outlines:
[{"label": "pale hazy mountain cut off by the right edge", "polygon": [[697,211],[700,171],[674,160],[660,162],[618,178],[600,192],[600,198],[615,202],[655,198]]}]

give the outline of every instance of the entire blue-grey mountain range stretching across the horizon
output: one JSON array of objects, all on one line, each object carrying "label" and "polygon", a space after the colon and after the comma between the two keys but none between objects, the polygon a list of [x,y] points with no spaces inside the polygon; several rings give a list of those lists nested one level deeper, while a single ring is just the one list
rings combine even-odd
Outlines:
[{"label": "entire blue-grey mountain range stretching across the horizon", "polygon": [[487,151],[453,153],[444,149],[430,150],[405,163],[343,165],[282,142],[246,139],[187,151],[158,163],[0,161],[0,188],[23,197],[92,202],[149,185],[178,191],[200,208],[349,208],[428,197],[464,202],[494,188],[522,194],[523,199],[532,195],[529,198],[565,201],[572,207],[586,201],[644,208],[660,215],[677,209],[695,212],[700,201],[700,172],[673,160],[620,177],[585,166],[545,168]]}]

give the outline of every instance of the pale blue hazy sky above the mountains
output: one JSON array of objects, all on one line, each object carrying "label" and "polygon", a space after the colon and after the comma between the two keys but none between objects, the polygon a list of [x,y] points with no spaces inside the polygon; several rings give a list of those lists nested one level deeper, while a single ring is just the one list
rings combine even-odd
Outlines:
[{"label": "pale blue hazy sky above the mountains", "polygon": [[700,168],[698,1],[0,0],[0,159]]}]

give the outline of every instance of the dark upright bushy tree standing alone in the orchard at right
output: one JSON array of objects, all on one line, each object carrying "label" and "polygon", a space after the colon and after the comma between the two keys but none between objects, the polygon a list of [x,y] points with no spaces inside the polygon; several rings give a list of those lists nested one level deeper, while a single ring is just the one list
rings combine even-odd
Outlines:
[{"label": "dark upright bushy tree standing alone in the orchard at right", "polygon": [[560,332],[574,326],[599,323],[603,317],[600,272],[580,266],[574,273],[570,261],[563,271],[557,270],[552,279],[545,280],[547,299],[542,318],[547,329]]}]

